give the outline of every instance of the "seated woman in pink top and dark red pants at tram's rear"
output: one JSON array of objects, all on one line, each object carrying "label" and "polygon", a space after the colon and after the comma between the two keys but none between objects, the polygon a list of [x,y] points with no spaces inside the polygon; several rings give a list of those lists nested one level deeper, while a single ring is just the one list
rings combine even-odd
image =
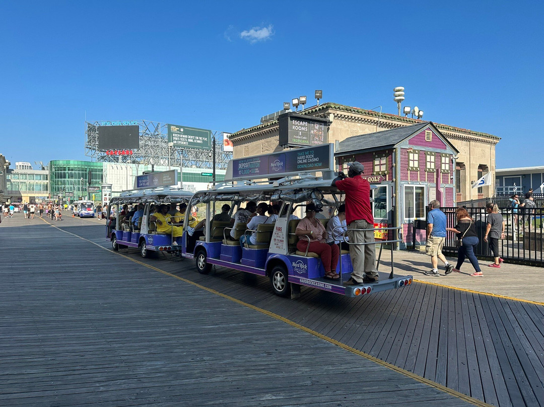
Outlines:
[{"label": "seated woman in pink top and dark red pants at tram's rear", "polygon": [[[329,280],[338,280],[340,276],[336,273],[340,249],[336,244],[326,244],[327,231],[322,223],[316,219],[316,212],[321,212],[314,204],[306,205],[306,216],[302,218],[296,226],[296,236],[307,236],[310,239],[300,238],[296,243],[296,249],[299,251],[314,252],[319,255],[325,269],[325,278]],[[308,247],[309,246],[309,247]]]}]

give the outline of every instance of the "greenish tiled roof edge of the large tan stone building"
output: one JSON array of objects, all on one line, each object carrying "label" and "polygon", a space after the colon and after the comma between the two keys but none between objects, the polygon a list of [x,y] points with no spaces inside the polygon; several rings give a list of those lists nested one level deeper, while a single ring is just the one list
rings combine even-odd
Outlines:
[{"label": "greenish tiled roof edge of the large tan stone building", "polygon": [[[394,121],[399,121],[399,122],[405,122],[407,124],[422,123],[422,120],[418,120],[418,119],[411,119],[411,118],[407,118],[407,117],[404,117],[404,116],[398,116],[396,114],[390,114],[390,113],[380,113],[380,112],[375,112],[374,110],[366,110],[366,109],[361,109],[361,108],[358,108],[358,107],[345,106],[344,104],[331,103],[331,102],[326,102],[326,103],[320,104],[319,106],[318,105],[312,106],[312,107],[307,108],[304,111],[297,112],[297,113],[310,115],[312,113],[316,113],[316,112],[319,112],[319,110],[324,110],[324,109],[335,109],[335,110],[342,110],[343,112],[365,114],[365,115],[368,115],[368,116],[375,116],[376,118],[379,118],[380,120],[381,119],[394,120]],[[265,123],[265,124],[262,124],[262,125],[257,125],[257,126],[253,126],[253,127],[250,127],[250,128],[243,128],[243,129],[241,129],[241,130],[239,130],[239,131],[237,131],[235,133],[232,133],[228,138],[230,139],[232,137],[236,137],[238,135],[249,133],[249,132],[252,132],[252,131],[255,131],[255,130],[258,130],[258,129],[261,129],[261,128],[265,128],[265,127],[271,127],[271,126],[274,126],[274,125],[277,126],[277,124],[278,124],[278,121],[273,120],[273,121],[269,121],[268,123]],[[490,138],[490,139],[497,140],[497,141],[500,140],[500,137],[497,137],[496,135],[493,135],[493,134],[476,132],[476,131],[465,129],[465,128],[447,126],[447,125],[442,125],[442,124],[439,124],[439,123],[435,123],[434,125],[436,126],[437,129],[440,129],[440,130],[455,131],[455,132],[461,132],[461,133],[465,133],[465,134],[471,134],[471,135],[477,135],[477,136],[480,136],[480,137]]]}]

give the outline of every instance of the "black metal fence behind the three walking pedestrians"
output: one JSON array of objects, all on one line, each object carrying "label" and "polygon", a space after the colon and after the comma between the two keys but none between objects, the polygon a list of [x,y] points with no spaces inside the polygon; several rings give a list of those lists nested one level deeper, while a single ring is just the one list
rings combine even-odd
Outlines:
[{"label": "black metal fence behind the three walking pedestrians", "polygon": [[[480,201],[480,200],[478,200]],[[497,202],[496,199],[487,199],[487,202]],[[485,204],[484,204],[485,206]],[[502,206],[502,205],[499,205]],[[489,245],[484,242],[487,226],[487,211],[484,207],[471,207],[465,205],[468,214],[476,223],[476,230],[480,243],[475,253],[478,257],[492,259],[493,255]],[[457,224],[455,218],[455,207],[441,208],[448,219],[448,227]],[[543,249],[543,226],[544,207],[519,208],[517,213],[514,209],[507,207],[499,211],[505,221],[505,238],[499,240],[499,255],[504,260],[512,263],[528,264],[530,266],[544,267]],[[456,236],[452,232],[447,233],[444,244],[444,254],[456,256]]]}]

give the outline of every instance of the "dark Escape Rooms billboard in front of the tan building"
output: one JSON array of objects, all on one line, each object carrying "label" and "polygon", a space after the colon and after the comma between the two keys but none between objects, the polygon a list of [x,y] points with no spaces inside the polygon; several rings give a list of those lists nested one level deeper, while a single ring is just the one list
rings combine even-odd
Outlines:
[{"label": "dark Escape Rooms billboard in front of the tan building", "polygon": [[330,121],[293,112],[279,117],[280,145],[316,146],[327,143]]}]

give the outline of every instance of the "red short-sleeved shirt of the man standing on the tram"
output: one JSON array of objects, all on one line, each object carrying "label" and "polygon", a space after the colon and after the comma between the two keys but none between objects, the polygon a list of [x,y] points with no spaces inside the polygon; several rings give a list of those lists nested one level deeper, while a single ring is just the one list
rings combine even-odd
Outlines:
[{"label": "red short-sleeved shirt of the man standing on the tram", "polygon": [[335,185],[345,192],[345,222],[349,225],[354,220],[364,219],[374,225],[368,181],[357,175],[336,181]]}]

